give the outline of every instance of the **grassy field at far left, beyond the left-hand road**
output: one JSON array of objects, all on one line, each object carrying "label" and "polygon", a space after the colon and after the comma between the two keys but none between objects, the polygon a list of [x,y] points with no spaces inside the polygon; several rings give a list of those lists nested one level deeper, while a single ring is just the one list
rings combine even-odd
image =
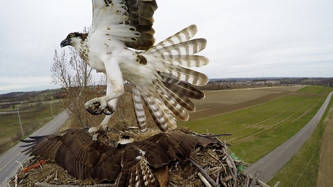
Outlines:
[{"label": "grassy field at far left, beyond the left-hand road", "polygon": [[[22,139],[22,130],[24,136],[27,136],[51,121],[53,116],[62,112],[62,103],[59,99],[53,99],[55,95],[53,92],[56,91],[15,93],[15,96],[10,97],[2,95],[0,103],[0,154],[10,148],[11,143]],[[22,130],[17,108],[19,108]]]}]

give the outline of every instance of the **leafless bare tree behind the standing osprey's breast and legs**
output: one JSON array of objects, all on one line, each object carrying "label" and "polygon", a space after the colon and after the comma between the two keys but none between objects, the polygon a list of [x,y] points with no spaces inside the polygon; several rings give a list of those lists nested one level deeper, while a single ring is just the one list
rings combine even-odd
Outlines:
[{"label": "leafless bare tree behind the standing osprey's breast and legs", "polygon": [[69,59],[65,51],[61,55],[55,51],[53,61],[52,82],[65,88],[63,103],[69,111],[71,127],[85,127],[101,121],[103,116],[87,113],[84,103],[102,95],[103,81],[99,85],[92,82],[93,69],[81,60],[75,48],[69,48]]}]

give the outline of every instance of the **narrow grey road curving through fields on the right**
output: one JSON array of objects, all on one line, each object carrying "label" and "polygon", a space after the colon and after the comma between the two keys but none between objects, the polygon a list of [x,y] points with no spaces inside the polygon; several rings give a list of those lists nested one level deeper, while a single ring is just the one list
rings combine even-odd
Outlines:
[{"label": "narrow grey road curving through fields on the right", "polygon": [[262,170],[262,174],[259,175],[259,179],[267,182],[274,177],[274,175],[286,164],[291,157],[302,147],[302,145],[309,139],[312,132],[316,128],[319,121],[323,117],[323,114],[330,103],[333,92],[331,92],[316,115],[305,125],[302,129],[291,137],[288,141],[280,145],[262,159],[259,159],[252,166],[246,168],[246,172],[250,172],[254,175],[257,170]]}]

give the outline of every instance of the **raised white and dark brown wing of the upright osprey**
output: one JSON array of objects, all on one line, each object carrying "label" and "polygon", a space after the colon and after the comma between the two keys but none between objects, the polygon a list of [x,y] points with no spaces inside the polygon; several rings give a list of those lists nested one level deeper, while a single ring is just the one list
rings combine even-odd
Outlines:
[{"label": "raised white and dark brown wing of the upright osprey", "polygon": [[92,29],[108,38],[125,42],[135,49],[148,49],[155,43],[153,14],[156,1],[92,0]]}]

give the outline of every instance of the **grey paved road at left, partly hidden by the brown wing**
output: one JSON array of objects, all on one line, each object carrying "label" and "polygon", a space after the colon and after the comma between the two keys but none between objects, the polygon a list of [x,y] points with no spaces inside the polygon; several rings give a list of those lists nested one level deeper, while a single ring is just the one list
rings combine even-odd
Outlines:
[{"label": "grey paved road at left, partly hidden by the brown wing", "polygon": [[[31,136],[41,136],[46,134],[53,134],[55,132],[58,132],[60,127],[65,123],[65,121],[68,118],[67,112],[62,112],[55,118],[53,118],[52,121],[49,123],[46,123],[43,127],[41,127],[39,130],[31,134]],[[22,142],[17,143],[14,147],[10,148],[7,152],[3,153],[0,156],[0,186],[4,187],[7,186],[7,180],[6,178],[10,178],[15,175],[17,172],[17,169],[20,167],[19,163],[16,161],[19,161],[21,163],[24,163],[28,160],[28,155],[25,155],[21,151],[24,150],[24,148],[20,148],[19,145],[23,145]]]}]

